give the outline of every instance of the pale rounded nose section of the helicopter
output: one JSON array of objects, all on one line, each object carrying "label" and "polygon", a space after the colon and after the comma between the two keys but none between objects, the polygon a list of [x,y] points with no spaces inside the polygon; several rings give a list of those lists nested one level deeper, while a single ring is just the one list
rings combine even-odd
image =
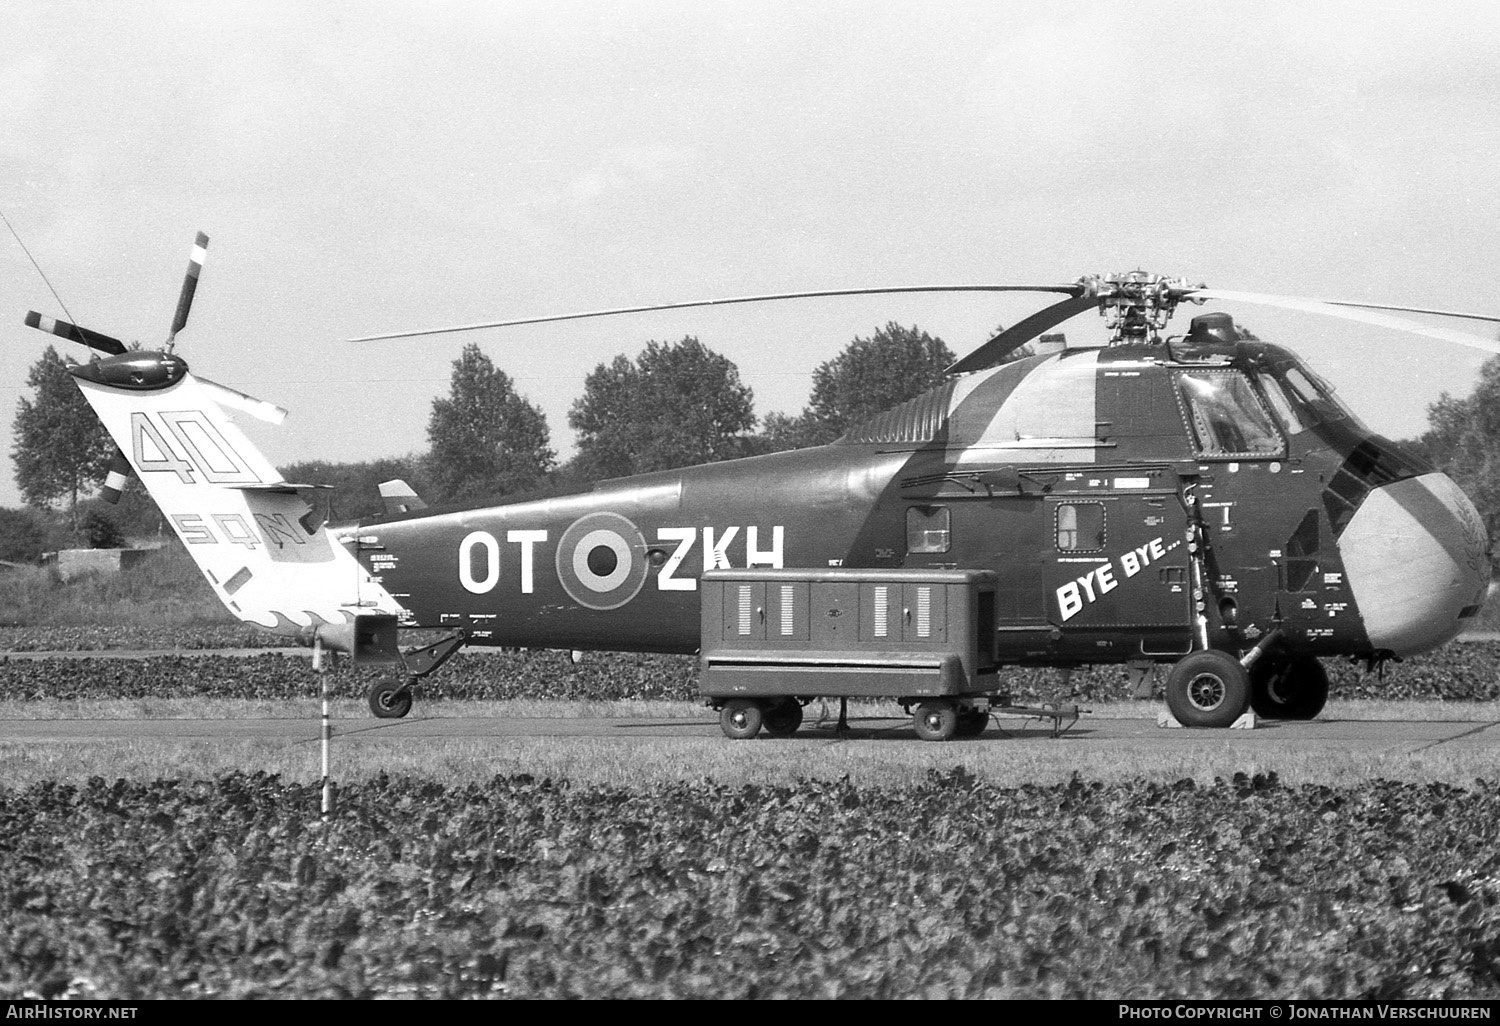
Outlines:
[{"label": "pale rounded nose section of the helicopter", "polygon": [[1383,484],[1338,540],[1376,650],[1412,656],[1452,640],[1490,586],[1485,524],[1446,474]]}]

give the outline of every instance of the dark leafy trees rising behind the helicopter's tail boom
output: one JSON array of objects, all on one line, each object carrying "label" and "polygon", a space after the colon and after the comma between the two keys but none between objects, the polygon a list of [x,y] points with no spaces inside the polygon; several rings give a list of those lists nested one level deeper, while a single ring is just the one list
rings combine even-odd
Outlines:
[{"label": "dark leafy trees rising behind the helicopter's tail boom", "polygon": [[[408,456],[406,472],[396,477],[405,477],[429,502],[483,504],[820,446],[940,384],[952,362],[942,339],[892,321],[820,364],[800,414],[771,412],[762,422],[754,393],[732,360],[693,336],[651,340],[634,357],[620,354],[584,380],[584,393],[567,416],[578,452],[560,462],[542,411],[470,344],[453,362],[448,393],[432,404],[426,453]],[[328,470],[297,465],[286,474]],[[374,496],[374,484],[388,480],[380,477],[387,470],[348,483]],[[378,500],[351,514],[376,510]]]}]

